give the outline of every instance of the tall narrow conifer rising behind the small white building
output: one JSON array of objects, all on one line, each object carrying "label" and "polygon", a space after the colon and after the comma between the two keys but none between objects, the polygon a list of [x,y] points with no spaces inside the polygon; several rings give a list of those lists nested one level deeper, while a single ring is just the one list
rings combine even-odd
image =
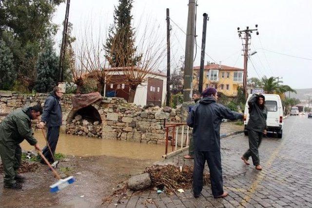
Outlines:
[{"label": "tall narrow conifer rising behind the small white building", "polygon": [[106,39],[106,58],[112,67],[126,67],[137,64],[135,33],[131,26],[133,0],[119,0],[114,10],[114,24],[109,28]]}]

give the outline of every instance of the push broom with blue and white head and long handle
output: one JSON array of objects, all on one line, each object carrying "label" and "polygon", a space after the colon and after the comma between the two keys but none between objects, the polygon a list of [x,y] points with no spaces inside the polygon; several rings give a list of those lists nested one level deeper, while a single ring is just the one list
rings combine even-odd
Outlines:
[{"label": "push broom with blue and white head and long handle", "polygon": [[49,161],[45,158],[45,156],[42,154],[41,151],[38,151],[38,153],[40,154],[41,158],[44,160],[44,162],[49,166],[49,168],[52,170],[52,172],[54,173],[55,177],[59,180],[57,183],[53,184],[50,186],[50,192],[51,193],[55,193],[60,191],[61,189],[64,189],[65,187],[69,186],[70,184],[74,183],[76,181],[76,179],[74,178],[74,176],[69,176],[67,178],[62,179],[59,175],[59,173],[54,170],[54,168],[51,166],[51,164],[49,163]]}]

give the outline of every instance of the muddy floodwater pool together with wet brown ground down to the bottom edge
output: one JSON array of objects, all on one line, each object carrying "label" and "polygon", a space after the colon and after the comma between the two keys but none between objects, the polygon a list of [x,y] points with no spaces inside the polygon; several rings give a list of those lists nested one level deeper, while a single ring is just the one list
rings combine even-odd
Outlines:
[{"label": "muddy floodwater pool together with wet brown ground down to the bottom edge", "polygon": [[[41,131],[35,132],[41,148],[45,140]],[[23,150],[33,150],[27,141]],[[13,208],[92,208],[100,207],[102,199],[112,194],[116,185],[161,160],[164,145],[103,140],[61,133],[56,152],[67,155],[60,161],[58,171],[69,170],[77,181],[59,193],[49,192],[56,183],[47,166],[22,174],[26,177],[19,190],[3,188],[0,179],[0,207]]]}]

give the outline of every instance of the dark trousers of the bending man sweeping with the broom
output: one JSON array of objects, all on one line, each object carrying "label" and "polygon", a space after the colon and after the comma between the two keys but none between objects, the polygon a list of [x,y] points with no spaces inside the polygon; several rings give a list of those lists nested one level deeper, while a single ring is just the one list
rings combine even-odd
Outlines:
[{"label": "dark trousers of the bending man sweeping with the broom", "polygon": [[7,147],[0,143],[0,156],[4,170],[4,184],[12,185],[20,168],[21,148],[20,145]]}]

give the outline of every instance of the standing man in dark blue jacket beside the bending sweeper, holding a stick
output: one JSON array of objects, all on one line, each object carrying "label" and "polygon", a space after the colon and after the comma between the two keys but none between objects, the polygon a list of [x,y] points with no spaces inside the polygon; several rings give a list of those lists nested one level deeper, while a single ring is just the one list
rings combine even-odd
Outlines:
[{"label": "standing man in dark blue jacket beside the bending sweeper, holding a stick", "polygon": [[[59,127],[62,125],[62,110],[60,105],[62,96],[63,92],[61,88],[55,87],[53,92],[45,100],[41,122],[38,124],[39,128],[47,126],[47,140],[53,154],[55,153],[59,140]],[[44,147],[42,153],[50,163],[55,162],[47,146]],[[45,164],[43,161],[41,161],[41,163]]]}]

